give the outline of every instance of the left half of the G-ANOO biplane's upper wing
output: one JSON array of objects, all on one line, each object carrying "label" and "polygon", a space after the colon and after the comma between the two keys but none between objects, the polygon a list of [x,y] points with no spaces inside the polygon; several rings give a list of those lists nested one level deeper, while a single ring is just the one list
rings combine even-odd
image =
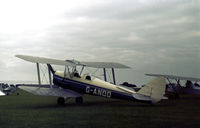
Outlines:
[{"label": "left half of the G-ANOO biplane's upper wing", "polygon": [[35,57],[35,56],[27,56],[27,55],[16,55],[16,57],[33,62],[33,63],[43,63],[43,64],[55,64],[55,65],[66,65],[66,66],[75,66],[75,64],[66,62],[64,60],[50,59],[44,57]]}]

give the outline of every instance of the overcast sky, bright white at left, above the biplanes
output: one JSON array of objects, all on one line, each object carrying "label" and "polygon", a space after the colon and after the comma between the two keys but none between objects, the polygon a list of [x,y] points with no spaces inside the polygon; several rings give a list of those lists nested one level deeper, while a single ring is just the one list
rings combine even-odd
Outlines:
[{"label": "overcast sky, bright white at left, above the biplanes", "polygon": [[119,62],[118,83],[200,78],[199,0],[1,0],[0,80],[37,80],[16,54]]}]

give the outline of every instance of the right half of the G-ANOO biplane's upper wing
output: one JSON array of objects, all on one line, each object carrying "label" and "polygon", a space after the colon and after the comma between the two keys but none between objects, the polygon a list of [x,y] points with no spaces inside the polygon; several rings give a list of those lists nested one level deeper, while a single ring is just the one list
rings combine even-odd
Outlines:
[{"label": "right half of the G-ANOO biplane's upper wing", "polygon": [[81,62],[82,65],[93,68],[130,68],[126,65],[115,62]]}]

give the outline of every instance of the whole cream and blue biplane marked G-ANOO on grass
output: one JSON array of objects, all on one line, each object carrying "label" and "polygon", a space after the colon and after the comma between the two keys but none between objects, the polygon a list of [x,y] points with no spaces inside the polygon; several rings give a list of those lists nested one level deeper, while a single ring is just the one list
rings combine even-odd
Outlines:
[{"label": "whole cream and blue biplane marked G-ANOO on grass", "polygon": [[[82,103],[84,94],[154,104],[160,101],[165,93],[166,81],[163,77],[152,80],[138,92],[125,86],[116,85],[114,69],[130,68],[120,63],[81,62],[27,55],[16,55],[16,57],[36,63],[38,74],[38,84],[18,84],[18,88],[35,95],[56,96],[58,97],[57,104],[59,105],[64,105],[69,98],[75,98],[76,103]],[[48,85],[41,84],[39,64],[45,64],[48,67]],[[52,65],[64,66],[64,71],[56,71]],[[77,67],[81,67],[79,71]],[[89,73],[82,74],[86,67],[102,68],[104,80],[93,77]],[[112,69],[113,83],[106,81],[107,69]]]}]

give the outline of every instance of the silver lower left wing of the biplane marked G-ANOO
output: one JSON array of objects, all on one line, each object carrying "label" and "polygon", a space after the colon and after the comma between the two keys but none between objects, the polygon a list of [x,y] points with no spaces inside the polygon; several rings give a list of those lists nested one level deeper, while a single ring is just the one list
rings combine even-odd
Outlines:
[{"label": "silver lower left wing of the biplane marked G-ANOO", "polygon": [[49,86],[49,85],[30,85],[30,84],[19,84],[17,85],[18,88],[32,93],[34,95],[41,95],[41,96],[58,96],[58,97],[81,97],[82,95],[69,90],[63,89],[58,86]]}]

